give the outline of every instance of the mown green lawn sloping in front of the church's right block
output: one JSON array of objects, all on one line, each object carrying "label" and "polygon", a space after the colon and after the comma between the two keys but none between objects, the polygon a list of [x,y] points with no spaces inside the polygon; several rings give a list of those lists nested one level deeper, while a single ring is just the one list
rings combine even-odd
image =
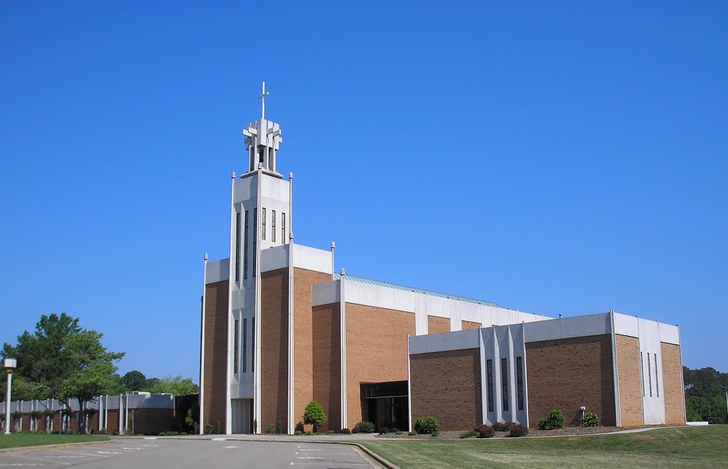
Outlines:
[{"label": "mown green lawn sloping in front of the church's right block", "polygon": [[728,468],[728,425],[644,433],[467,440],[361,441],[400,468]]}]

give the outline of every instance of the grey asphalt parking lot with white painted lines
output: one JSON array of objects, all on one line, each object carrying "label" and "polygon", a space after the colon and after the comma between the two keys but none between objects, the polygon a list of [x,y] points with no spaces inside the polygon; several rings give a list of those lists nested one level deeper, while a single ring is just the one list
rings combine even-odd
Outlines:
[{"label": "grey asphalt parking lot with white painted lines", "polygon": [[[365,459],[366,458],[366,459]],[[371,463],[370,463],[371,462]],[[351,468],[379,467],[341,444],[193,439],[114,439],[105,444],[0,454],[0,468]]]}]

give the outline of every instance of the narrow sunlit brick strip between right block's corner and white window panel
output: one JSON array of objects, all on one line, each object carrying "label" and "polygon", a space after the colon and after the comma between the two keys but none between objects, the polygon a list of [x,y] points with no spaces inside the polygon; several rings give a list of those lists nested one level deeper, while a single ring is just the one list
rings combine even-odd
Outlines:
[{"label": "narrow sunlit brick strip between right block's corner and white window panel", "polygon": [[642,383],[639,372],[637,337],[614,336],[617,349],[617,376],[620,382],[620,414],[622,427],[644,425]]}]

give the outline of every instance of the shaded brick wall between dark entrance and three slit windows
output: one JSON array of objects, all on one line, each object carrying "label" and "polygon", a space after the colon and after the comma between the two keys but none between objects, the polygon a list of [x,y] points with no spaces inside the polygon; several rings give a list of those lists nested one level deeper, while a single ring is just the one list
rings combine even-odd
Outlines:
[{"label": "shaded brick wall between dark entrance and three slit windows", "polygon": [[410,374],[412,420],[434,415],[441,430],[481,423],[480,349],[411,355]]}]

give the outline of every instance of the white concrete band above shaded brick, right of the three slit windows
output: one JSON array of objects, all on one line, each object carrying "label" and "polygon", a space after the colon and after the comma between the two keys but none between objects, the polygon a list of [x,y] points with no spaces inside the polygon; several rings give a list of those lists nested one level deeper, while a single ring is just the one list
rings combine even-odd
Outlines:
[{"label": "white concrete band above shaded brick, right of the three slit windows", "polygon": [[529,342],[612,333],[609,313],[529,322],[525,323],[524,327],[526,330],[526,340]]}]

